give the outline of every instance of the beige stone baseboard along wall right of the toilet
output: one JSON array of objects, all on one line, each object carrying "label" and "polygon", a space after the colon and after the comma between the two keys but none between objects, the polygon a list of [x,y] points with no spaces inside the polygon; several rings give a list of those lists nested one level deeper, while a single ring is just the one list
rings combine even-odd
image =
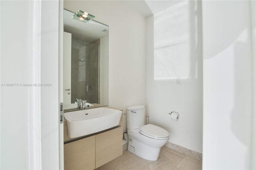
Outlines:
[{"label": "beige stone baseboard along wall right of the toilet", "polygon": [[179,146],[179,145],[171,143],[171,142],[167,142],[165,144],[165,146],[170,148],[170,149],[173,149],[173,150],[176,150],[178,152],[181,152],[183,154],[186,154],[188,156],[191,156],[192,158],[196,158],[198,160],[202,160],[202,154],[199,153],[199,152],[196,152],[194,150],[190,150],[188,148],[184,148],[182,146]]}]

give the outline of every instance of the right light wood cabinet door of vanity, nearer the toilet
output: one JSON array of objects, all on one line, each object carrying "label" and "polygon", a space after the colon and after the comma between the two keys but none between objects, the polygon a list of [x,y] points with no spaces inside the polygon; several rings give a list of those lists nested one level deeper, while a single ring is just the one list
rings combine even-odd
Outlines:
[{"label": "right light wood cabinet door of vanity, nearer the toilet", "polygon": [[123,154],[122,127],[96,135],[96,168]]}]

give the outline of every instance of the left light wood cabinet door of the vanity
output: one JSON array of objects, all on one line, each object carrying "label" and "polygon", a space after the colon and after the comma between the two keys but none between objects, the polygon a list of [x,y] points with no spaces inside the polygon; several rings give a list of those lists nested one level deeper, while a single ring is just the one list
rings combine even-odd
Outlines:
[{"label": "left light wood cabinet door of the vanity", "polygon": [[64,144],[64,169],[95,169],[95,135]]}]

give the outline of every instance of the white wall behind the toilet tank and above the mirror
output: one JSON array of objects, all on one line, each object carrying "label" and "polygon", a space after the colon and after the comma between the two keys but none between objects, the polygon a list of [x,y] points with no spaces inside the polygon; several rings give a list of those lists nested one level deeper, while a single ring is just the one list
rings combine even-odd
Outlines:
[{"label": "white wall behind the toilet tank and above the mirror", "polygon": [[[108,105],[124,109],[146,104],[146,19],[118,1],[64,1],[109,26]],[[126,131],[126,115],[123,115]]]}]

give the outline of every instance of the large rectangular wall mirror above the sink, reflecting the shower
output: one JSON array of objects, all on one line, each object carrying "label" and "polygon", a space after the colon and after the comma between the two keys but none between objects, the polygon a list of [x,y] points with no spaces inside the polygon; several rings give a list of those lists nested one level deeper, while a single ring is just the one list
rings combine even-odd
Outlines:
[{"label": "large rectangular wall mirror above the sink, reflecting the shower", "polygon": [[108,26],[72,19],[64,10],[63,103],[76,109],[76,99],[90,107],[108,105]]}]

